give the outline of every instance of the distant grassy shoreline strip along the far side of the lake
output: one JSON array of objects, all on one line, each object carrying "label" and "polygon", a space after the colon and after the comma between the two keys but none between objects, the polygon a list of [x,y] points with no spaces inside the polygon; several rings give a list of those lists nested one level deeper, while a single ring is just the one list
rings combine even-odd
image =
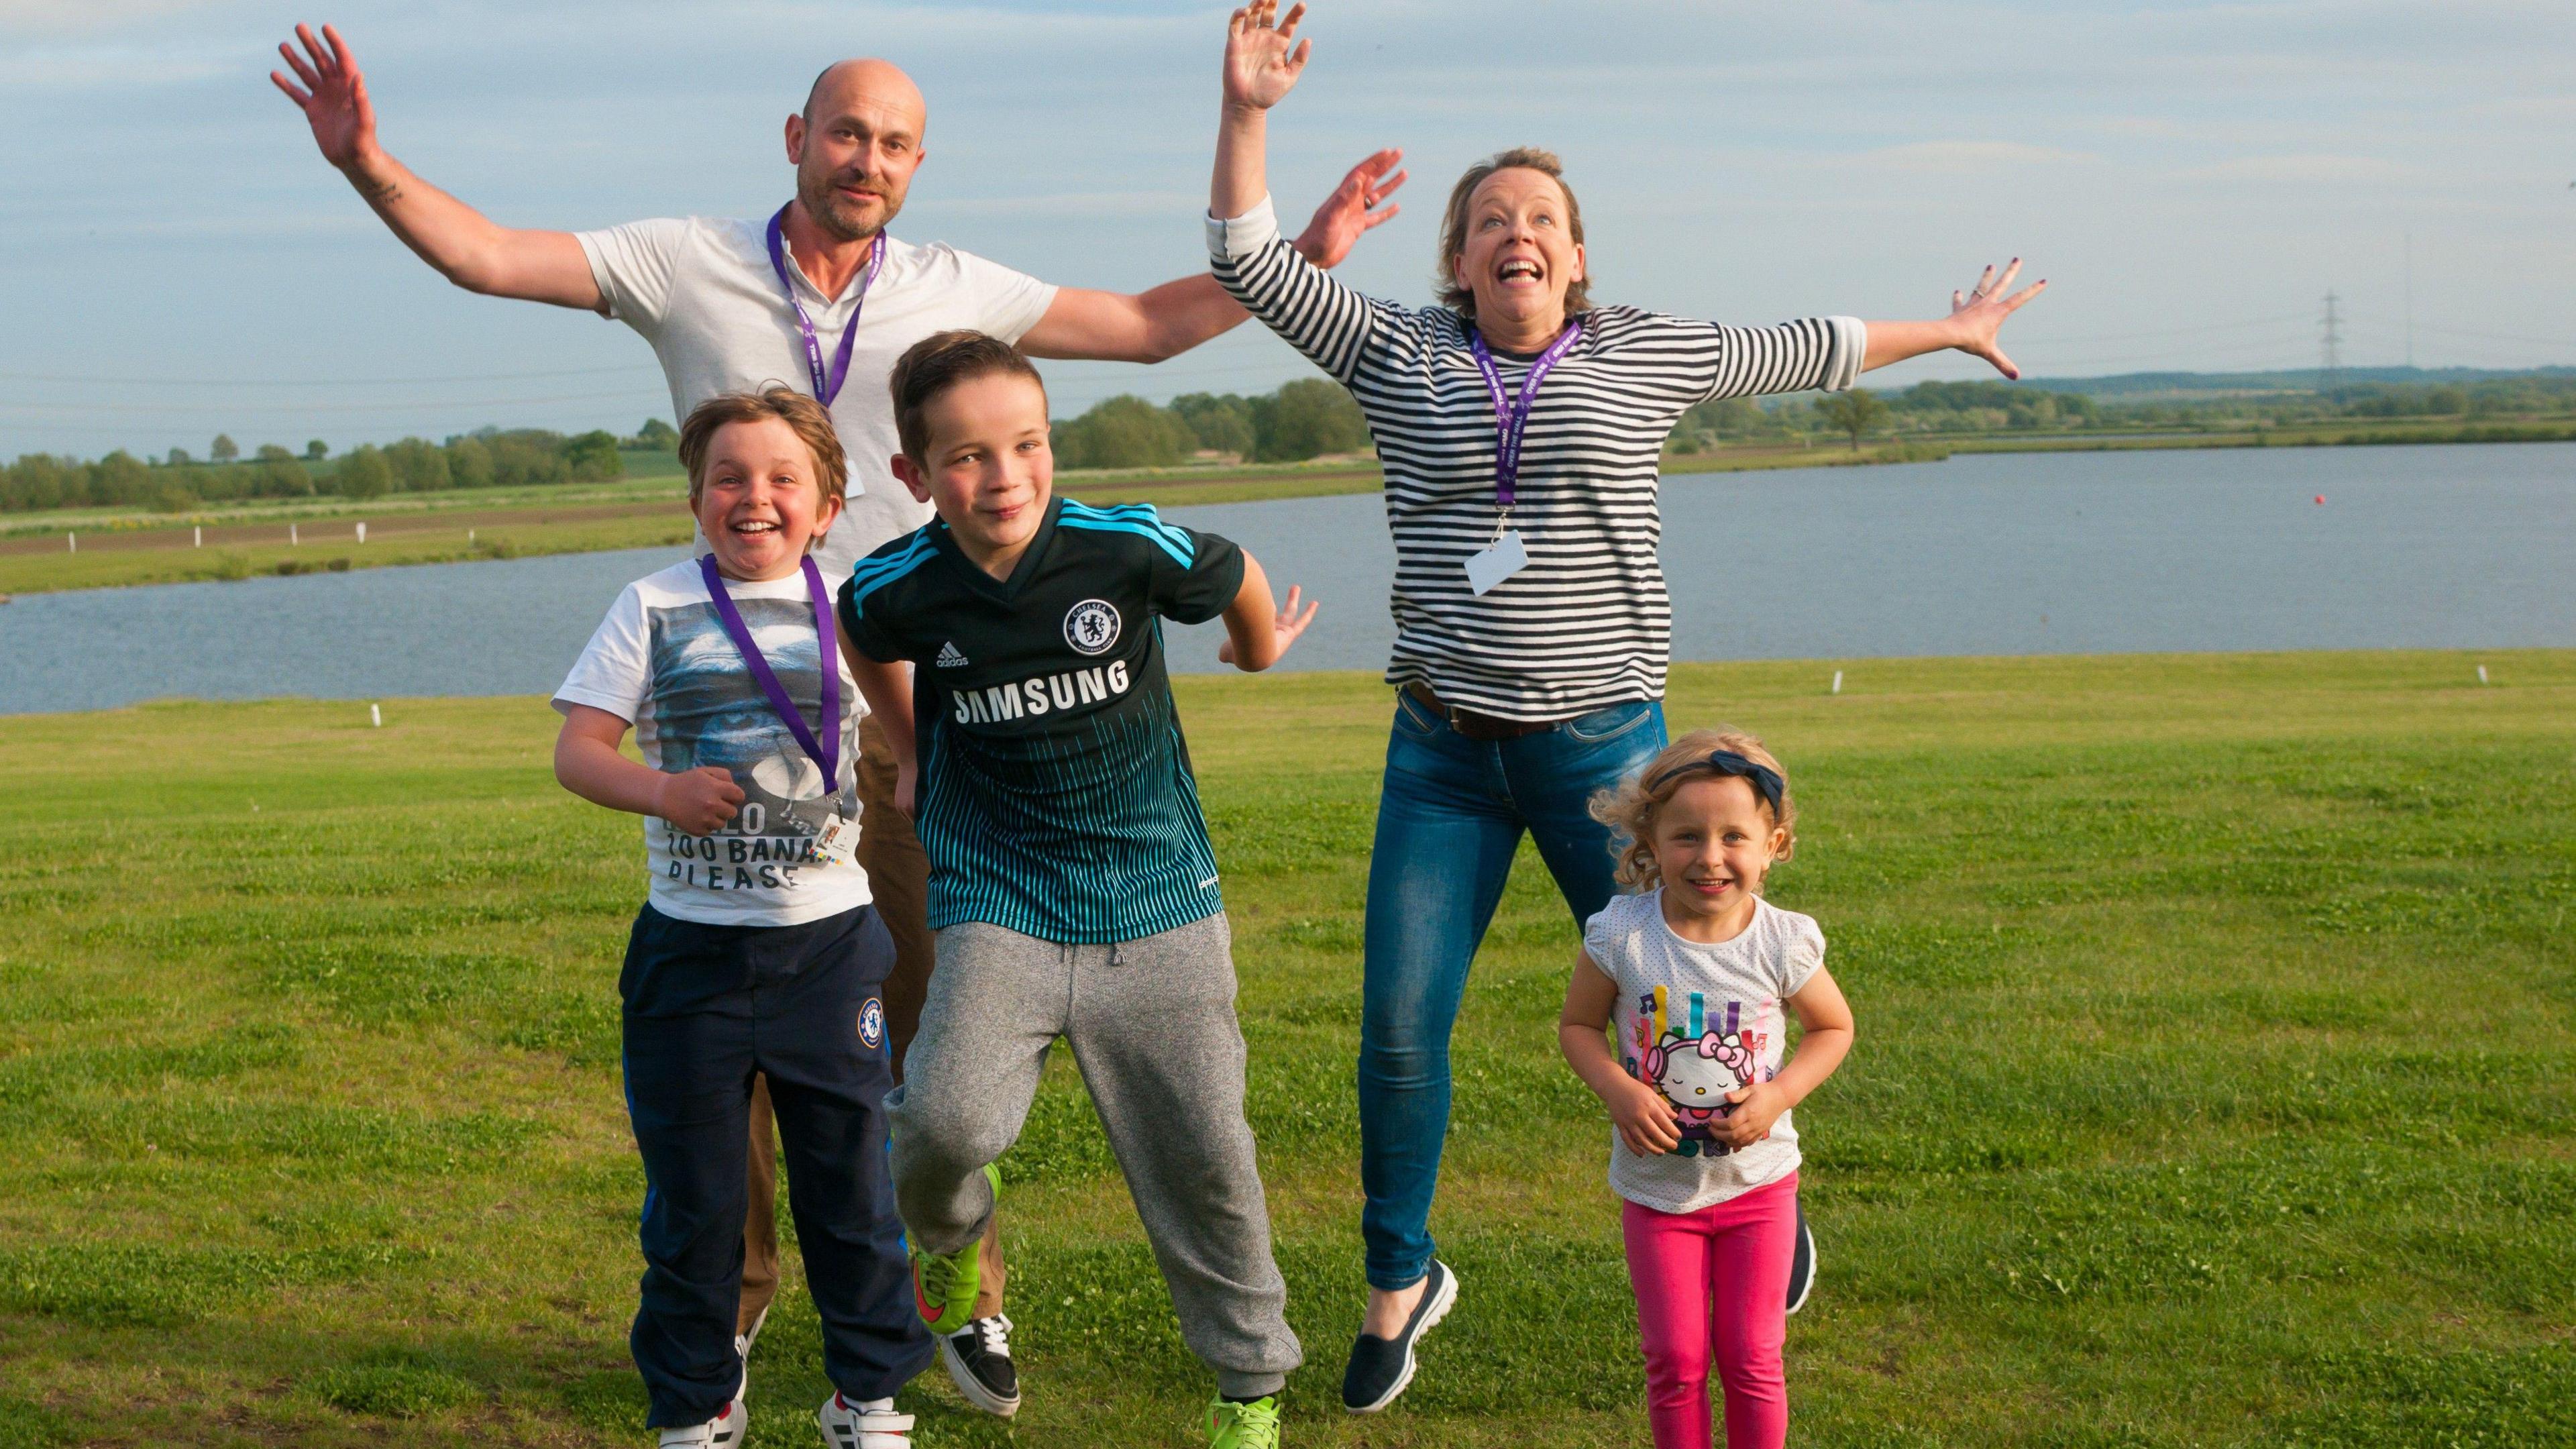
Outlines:
[{"label": "distant grassy shoreline strip along the far side of the lake", "polygon": [[[1953,454],[2561,441],[2576,441],[2576,420],[2339,420],[2282,428],[2061,436],[1914,433],[1870,438],[1860,449],[1814,438],[1806,443],[1718,446],[1667,456],[1664,474],[1927,464]],[[1064,492],[1095,503],[1159,503],[1167,508],[1376,492],[1381,487],[1378,467],[1365,456],[1306,464],[1100,469],[1056,477]],[[175,516],[98,508],[0,516],[0,596],[677,547],[690,539],[680,495],[680,480],[654,469],[649,477],[618,482],[410,492],[366,503],[304,498],[196,508]],[[361,523],[368,529],[366,541],[358,539]]]}]

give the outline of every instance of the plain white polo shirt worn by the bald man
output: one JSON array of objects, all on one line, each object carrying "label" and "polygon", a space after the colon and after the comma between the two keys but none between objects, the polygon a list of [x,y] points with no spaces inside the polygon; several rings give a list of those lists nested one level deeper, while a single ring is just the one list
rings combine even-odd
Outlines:
[{"label": "plain white polo shirt worn by the bald man", "polygon": [[[768,217],[757,222],[688,217],[629,222],[603,232],[574,232],[590,276],[600,284],[608,317],[652,343],[670,379],[672,423],[719,392],[752,392],[783,382],[814,392],[796,312],[770,268]],[[850,312],[860,309],[860,278],[837,299],[806,281],[788,253],[796,297],[814,320],[824,366],[840,351]],[[886,266],[868,289],[850,345],[850,374],[832,400],[832,425],[850,454],[850,508],[814,549],[824,580],[840,588],[850,565],[878,544],[930,521],[886,467],[899,451],[886,376],[904,348],[948,327],[974,327],[1018,343],[1056,302],[1056,289],[961,253],[945,242],[912,245],[889,237]]]}]

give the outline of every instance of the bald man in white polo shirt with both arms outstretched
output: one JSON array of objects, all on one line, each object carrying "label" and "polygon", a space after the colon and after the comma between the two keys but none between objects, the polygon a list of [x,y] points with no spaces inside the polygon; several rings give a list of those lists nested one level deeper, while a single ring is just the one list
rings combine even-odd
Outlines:
[{"label": "bald man in white polo shirt with both arms outstretched", "polygon": [[[902,242],[886,227],[904,209],[927,157],[927,103],[899,67],[845,59],[824,70],[786,119],[796,199],[762,219],[659,219],[603,232],[500,227],[412,175],[376,142],[376,108],[335,28],[278,52],[291,77],[270,80],[307,116],[322,157],[440,276],[487,297],[580,307],[626,322],[652,343],[670,379],[672,418],[719,392],[788,382],[829,410],[850,454],[850,505],[814,547],[829,578],[878,544],[930,521],[930,505],[894,485],[902,451],[886,374],[920,338],[974,327],[1041,358],[1162,361],[1244,320],[1200,268],[1151,291],[1048,286],[943,242]],[[1298,237],[1298,250],[1334,266],[1360,232],[1394,217],[1378,206],[1401,175],[1396,152],[1363,160]],[[1177,219],[1175,219],[1177,224]],[[1175,232],[1177,235],[1177,232]],[[860,722],[855,761],[860,864],[894,933],[896,967],[884,987],[886,1044],[902,1080],[904,1047],[920,1024],[933,946],[925,918],[927,861],[912,822],[894,810],[894,758],[884,732]],[[866,1024],[860,1026],[866,1036]],[[873,1047],[873,1042],[871,1042]],[[775,1142],[765,1091],[755,1096],[737,1346],[778,1292]],[[1020,1405],[1002,1315],[999,1225],[984,1240],[984,1292],[974,1323],[940,1341],[958,1390],[989,1413]]]}]

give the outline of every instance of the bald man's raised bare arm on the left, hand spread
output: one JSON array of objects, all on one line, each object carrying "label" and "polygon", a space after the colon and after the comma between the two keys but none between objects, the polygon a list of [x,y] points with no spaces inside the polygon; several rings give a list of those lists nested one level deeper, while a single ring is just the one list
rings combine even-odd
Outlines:
[{"label": "bald man's raised bare arm on the left, hand spread", "polygon": [[412,175],[376,144],[376,106],[366,98],[366,77],[358,75],[340,31],[322,26],[322,36],[314,39],[309,26],[296,26],[296,41],[301,52],[294,44],[278,46],[294,80],[276,70],[268,80],[304,111],[322,160],[340,168],[402,245],[466,291],[600,309],[600,284],[590,276],[590,258],[572,232],[500,227]]}]

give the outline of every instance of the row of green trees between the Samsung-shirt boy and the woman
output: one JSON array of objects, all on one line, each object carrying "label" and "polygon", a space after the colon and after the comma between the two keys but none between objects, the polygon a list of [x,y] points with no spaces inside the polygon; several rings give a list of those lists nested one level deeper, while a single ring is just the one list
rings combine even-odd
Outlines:
[{"label": "row of green trees between the Samsung-shirt boy and the woman", "polygon": [[1172,467],[1195,454],[1285,464],[1368,449],[1368,420],[1337,382],[1309,376],[1260,397],[1190,392],[1170,407],[1110,397],[1054,425],[1056,467]]}]

